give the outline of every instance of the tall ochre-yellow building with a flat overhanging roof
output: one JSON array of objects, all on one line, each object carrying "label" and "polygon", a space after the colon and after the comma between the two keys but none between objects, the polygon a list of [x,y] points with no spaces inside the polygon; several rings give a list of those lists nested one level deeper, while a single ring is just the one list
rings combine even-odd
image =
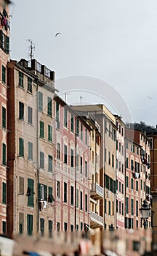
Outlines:
[{"label": "tall ochre-yellow building with a flat overhanging roof", "polygon": [[103,227],[116,227],[116,119],[104,105],[73,106],[76,111],[92,113],[100,125],[100,187],[104,197],[100,199],[100,216]]}]

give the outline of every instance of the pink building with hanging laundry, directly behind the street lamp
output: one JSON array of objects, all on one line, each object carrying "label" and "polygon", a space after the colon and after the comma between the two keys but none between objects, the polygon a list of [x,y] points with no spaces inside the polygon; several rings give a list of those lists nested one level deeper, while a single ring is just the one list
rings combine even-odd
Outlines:
[{"label": "pink building with hanging laundry, directly behind the street lamp", "polygon": [[[143,227],[139,209],[143,200],[150,204],[150,147],[139,130],[125,129],[126,143],[126,210],[125,227]],[[151,227],[151,218],[148,219]]]}]

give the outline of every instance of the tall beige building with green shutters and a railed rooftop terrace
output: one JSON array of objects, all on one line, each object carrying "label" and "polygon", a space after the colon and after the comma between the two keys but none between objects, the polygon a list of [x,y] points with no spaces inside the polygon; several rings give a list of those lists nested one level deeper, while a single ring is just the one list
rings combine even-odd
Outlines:
[{"label": "tall beige building with green shutters and a railed rooftop terrace", "polygon": [[55,72],[21,59],[7,79],[7,233],[51,233]]}]

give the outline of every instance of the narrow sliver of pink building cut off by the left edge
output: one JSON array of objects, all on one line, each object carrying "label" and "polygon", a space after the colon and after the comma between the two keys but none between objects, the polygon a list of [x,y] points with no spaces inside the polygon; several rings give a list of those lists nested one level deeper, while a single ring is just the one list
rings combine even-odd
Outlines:
[{"label": "narrow sliver of pink building cut off by the left edge", "polygon": [[6,232],[7,220],[7,61],[9,61],[9,6],[0,1],[0,233]]}]

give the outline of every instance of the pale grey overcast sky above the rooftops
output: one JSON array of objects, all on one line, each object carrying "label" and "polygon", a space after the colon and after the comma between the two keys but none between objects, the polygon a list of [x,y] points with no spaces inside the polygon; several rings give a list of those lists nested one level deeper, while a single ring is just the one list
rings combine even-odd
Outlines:
[{"label": "pale grey overcast sky above the rooftops", "polygon": [[101,103],[124,121],[157,124],[156,0],[12,1],[11,59],[28,59],[31,39],[69,105]]}]

